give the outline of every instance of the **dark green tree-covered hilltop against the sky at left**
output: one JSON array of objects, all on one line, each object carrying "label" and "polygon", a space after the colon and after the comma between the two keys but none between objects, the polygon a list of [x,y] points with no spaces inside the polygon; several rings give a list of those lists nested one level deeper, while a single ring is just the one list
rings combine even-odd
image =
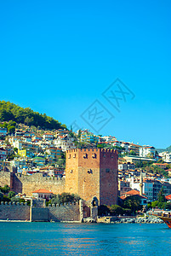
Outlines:
[{"label": "dark green tree-covered hilltop against the sky at left", "polygon": [[21,108],[11,102],[0,101],[0,122],[3,121],[15,121],[16,123],[40,126],[42,129],[49,130],[66,128],[66,125],[62,125],[45,113],[34,112],[31,108]]}]

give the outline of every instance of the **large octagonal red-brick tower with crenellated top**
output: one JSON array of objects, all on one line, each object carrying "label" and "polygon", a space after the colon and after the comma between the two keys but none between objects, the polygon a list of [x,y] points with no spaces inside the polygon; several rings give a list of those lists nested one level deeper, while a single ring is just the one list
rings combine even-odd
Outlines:
[{"label": "large octagonal red-brick tower with crenellated top", "polygon": [[88,204],[94,196],[100,205],[117,204],[118,154],[116,150],[72,149],[66,152],[66,192]]}]

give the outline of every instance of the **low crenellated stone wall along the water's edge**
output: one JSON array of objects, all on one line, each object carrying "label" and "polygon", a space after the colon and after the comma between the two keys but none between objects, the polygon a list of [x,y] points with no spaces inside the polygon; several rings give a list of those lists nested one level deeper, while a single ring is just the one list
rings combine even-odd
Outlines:
[{"label": "low crenellated stone wall along the water's edge", "polygon": [[[39,201],[40,202],[40,201]],[[43,202],[43,201],[42,201]],[[49,205],[45,207],[35,200],[31,206],[27,203],[1,202],[0,219],[3,220],[28,220],[28,221],[75,221],[82,222],[83,201]]]}]

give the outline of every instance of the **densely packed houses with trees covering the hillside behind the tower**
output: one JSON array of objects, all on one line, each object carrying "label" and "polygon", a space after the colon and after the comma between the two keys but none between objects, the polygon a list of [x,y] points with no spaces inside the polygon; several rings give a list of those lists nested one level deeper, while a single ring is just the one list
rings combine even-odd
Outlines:
[{"label": "densely packed houses with trees covering the hillside behind the tower", "polygon": [[[157,201],[162,188],[166,196],[171,194],[170,153],[158,153],[152,146],[118,141],[113,136],[96,136],[87,129],[44,131],[19,124],[13,133],[9,133],[7,128],[0,127],[0,171],[31,176],[33,180],[37,174],[65,179],[66,151],[75,148],[117,150],[118,196],[121,200],[136,195],[144,206]],[[43,193],[48,199],[53,191],[42,187],[32,191],[32,196],[45,196]]]}]

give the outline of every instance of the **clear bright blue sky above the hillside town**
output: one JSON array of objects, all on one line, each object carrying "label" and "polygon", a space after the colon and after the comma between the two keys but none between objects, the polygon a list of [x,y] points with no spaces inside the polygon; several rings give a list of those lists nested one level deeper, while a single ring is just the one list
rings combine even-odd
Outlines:
[{"label": "clear bright blue sky above the hillside town", "polygon": [[171,145],[171,2],[1,1],[0,100]]}]

